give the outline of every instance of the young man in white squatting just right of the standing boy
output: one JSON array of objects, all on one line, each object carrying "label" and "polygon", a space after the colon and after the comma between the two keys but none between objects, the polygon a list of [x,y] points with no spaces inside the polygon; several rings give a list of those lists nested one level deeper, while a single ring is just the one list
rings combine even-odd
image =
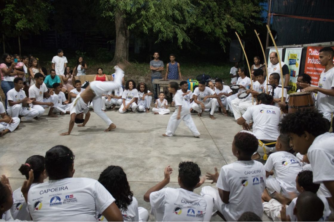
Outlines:
[{"label": "young man in white squatting just right of the standing boy", "polygon": [[215,119],[213,116],[217,106],[217,94],[205,85],[205,81],[200,81],[198,87],[194,90],[194,103],[192,109],[198,112],[198,116],[201,116],[204,109],[211,108],[210,118]]}]

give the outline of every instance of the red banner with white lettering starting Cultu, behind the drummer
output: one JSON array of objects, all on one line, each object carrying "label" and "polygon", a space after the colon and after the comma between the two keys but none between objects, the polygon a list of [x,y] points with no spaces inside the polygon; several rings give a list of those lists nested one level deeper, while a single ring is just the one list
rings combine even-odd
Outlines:
[{"label": "red banner with white lettering starting Cultu, behind the drummer", "polygon": [[[307,47],[304,73],[311,76],[311,84],[315,86],[318,86],[320,74],[325,70],[325,67],[319,61],[319,50],[322,48],[317,46]],[[332,48],[334,49],[334,47]]]}]

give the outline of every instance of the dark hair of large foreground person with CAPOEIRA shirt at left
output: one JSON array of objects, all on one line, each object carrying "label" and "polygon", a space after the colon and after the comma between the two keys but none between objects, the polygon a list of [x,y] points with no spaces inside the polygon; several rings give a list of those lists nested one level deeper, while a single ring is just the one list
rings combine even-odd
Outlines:
[{"label": "dark hair of large foreground person with CAPOEIRA shirt at left", "polygon": [[74,161],[73,152],[66,146],[57,145],[45,153],[45,170],[50,180],[70,177]]}]

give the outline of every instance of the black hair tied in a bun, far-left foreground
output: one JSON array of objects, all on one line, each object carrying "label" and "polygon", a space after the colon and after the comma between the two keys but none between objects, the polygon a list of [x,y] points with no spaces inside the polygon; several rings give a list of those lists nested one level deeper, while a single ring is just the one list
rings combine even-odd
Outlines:
[{"label": "black hair tied in a bun, far-left foreground", "polygon": [[45,167],[44,167],[44,157],[40,155],[33,155],[29,157],[24,164],[21,165],[19,171],[21,172],[22,175],[29,179],[29,171],[33,170],[34,171],[34,181],[37,182],[39,180],[40,175],[44,172]]}]

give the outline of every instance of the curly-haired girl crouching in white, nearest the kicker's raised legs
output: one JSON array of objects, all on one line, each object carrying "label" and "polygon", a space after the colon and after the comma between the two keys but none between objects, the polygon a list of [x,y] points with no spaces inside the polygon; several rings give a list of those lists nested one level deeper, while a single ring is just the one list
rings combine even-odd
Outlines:
[{"label": "curly-haired girl crouching in white, nearest the kicker's raised legs", "polygon": [[120,113],[125,113],[131,108],[131,112],[134,113],[137,108],[136,99],[139,97],[138,90],[136,89],[136,83],[133,80],[128,80],[125,83],[125,90],[122,95],[123,103],[118,110]]}]

